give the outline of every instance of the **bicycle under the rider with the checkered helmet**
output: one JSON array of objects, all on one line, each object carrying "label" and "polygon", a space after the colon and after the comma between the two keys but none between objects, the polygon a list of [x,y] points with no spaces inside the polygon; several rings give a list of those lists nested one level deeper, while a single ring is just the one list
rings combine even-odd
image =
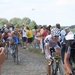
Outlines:
[{"label": "bicycle under the rider with the checkered helmet", "polygon": [[51,75],[64,75],[63,67],[61,65],[61,58],[59,56],[55,56],[55,50],[50,48],[52,59],[50,60],[50,68]]}]

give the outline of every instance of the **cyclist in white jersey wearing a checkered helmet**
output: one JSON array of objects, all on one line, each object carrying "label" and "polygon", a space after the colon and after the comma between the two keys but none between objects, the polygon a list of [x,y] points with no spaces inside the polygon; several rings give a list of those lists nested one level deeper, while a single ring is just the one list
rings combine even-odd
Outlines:
[{"label": "cyclist in white jersey wearing a checkered helmet", "polygon": [[45,43],[45,57],[47,60],[47,75],[50,75],[50,65],[49,61],[51,59],[51,54],[50,54],[50,48],[54,48],[56,54],[60,56],[60,46],[58,45],[58,42],[60,42],[60,30],[58,28],[52,28],[51,29],[51,34],[47,35],[44,43]]}]

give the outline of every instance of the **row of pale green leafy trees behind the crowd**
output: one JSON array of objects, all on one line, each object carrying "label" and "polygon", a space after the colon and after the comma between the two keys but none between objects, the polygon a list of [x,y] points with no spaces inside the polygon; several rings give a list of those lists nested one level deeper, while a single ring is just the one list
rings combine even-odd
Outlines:
[{"label": "row of pale green leafy trees behind the crowd", "polygon": [[8,26],[14,25],[14,27],[18,28],[20,28],[22,25],[25,25],[31,29],[33,29],[33,27],[37,25],[34,20],[31,21],[31,19],[28,17],[24,17],[22,19],[14,17],[9,21],[6,18],[0,18],[0,26],[3,26],[4,24],[8,24]]}]

